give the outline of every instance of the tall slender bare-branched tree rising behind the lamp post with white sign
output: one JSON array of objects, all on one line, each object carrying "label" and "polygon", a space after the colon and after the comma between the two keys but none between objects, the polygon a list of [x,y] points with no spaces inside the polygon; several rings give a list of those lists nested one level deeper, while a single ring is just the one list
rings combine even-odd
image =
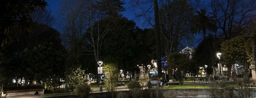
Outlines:
[{"label": "tall slender bare-branched tree rising behind the lamp post with white sign", "polygon": [[[86,50],[86,54],[93,54],[95,57],[95,69],[97,72],[97,62],[102,60],[100,58],[101,46],[103,44],[103,39],[107,33],[109,33],[113,27],[116,27],[118,24],[111,23],[115,19],[120,18],[120,11],[124,11],[122,7],[123,1],[120,0],[102,0],[94,2],[89,2],[89,18],[88,24],[90,27],[87,29],[89,37],[87,37],[85,43],[91,45],[92,50]],[[113,9],[110,9],[113,8]],[[108,22],[108,23],[102,23]],[[98,76],[99,79],[99,76]],[[99,83],[99,81],[97,81]]]}]

